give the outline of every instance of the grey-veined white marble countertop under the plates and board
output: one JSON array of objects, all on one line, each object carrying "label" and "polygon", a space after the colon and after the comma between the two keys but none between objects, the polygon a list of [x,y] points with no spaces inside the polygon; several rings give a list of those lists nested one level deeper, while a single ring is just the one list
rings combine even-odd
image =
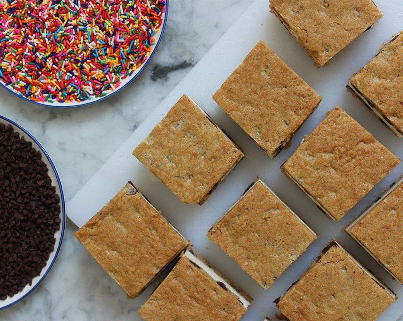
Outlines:
[{"label": "grey-veined white marble countertop under the plates and board", "polygon": [[[31,132],[52,157],[66,202],[179,83],[253,0],[171,0],[164,39],[141,76],[100,103],[50,109],[0,88],[0,115]],[[62,250],[42,284],[0,311],[1,320],[138,320],[126,295],[75,239],[68,220]]]}]

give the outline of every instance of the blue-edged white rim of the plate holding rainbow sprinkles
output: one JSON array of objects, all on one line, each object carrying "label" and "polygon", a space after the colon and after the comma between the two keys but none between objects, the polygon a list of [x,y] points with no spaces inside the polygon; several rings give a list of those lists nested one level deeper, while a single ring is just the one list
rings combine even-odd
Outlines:
[{"label": "blue-edged white rim of the plate holding rainbow sprinkles", "polygon": [[[17,94],[17,92],[15,92],[14,90],[12,90],[11,88],[9,88],[8,86],[6,86],[2,80],[0,80],[0,86],[2,86],[4,89],[6,89],[7,91],[11,92],[12,94],[14,94],[15,96],[25,100],[28,103],[33,103],[35,105],[39,105],[42,107],[48,107],[48,108],[77,108],[77,107],[84,107],[87,105],[91,105],[93,103],[98,103],[100,101],[103,101],[111,96],[113,96],[114,94],[120,92],[120,90],[123,90],[124,88],[126,88],[128,85],[130,85],[133,80],[135,80],[138,76],[140,76],[140,74],[143,72],[143,70],[145,69],[145,67],[147,67],[148,63],[151,61],[152,57],[154,56],[154,53],[157,51],[158,46],[161,43],[161,40],[164,36],[164,31],[165,31],[165,27],[166,27],[166,21],[168,20],[168,7],[169,7],[169,0],[165,0],[165,17],[164,17],[164,21],[162,22],[162,29],[160,30],[160,38],[158,39],[154,49],[152,50],[150,57],[147,59],[147,61],[145,61],[145,63],[143,63],[143,65],[141,65],[139,71],[133,76],[133,78],[131,80],[129,80],[126,84],[124,84],[123,86],[117,88],[116,90],[113,90],[112,92],[110,92],[109,94],[107,94],[104,97],[101,97],[97,100],[93,100],[93,101],[89,101],[88,103],[84,103],[84,104],[77,104],[77,103],[66,103],[66,106],[56,106],[56,105],[48,105],[48,104],[44,104],[40,101],[31,101],[30,99],[28,99],[25,96],[22,96],[20,94]],[[18,125],[17,125],[18,126]]]}]

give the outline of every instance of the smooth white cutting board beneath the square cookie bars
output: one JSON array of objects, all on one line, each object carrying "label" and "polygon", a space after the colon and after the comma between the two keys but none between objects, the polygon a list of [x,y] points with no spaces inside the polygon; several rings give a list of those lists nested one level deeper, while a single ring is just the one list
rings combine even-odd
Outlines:
[{"label": "smooth white cutting board beneath the square cookie bars", "polygon": [[[376,54],[382,42],[388,42],[393,34],[403,29],[403,1],[377,0],[376,4],[384,13],[384,17],[332,59],[328,66],[317,69],[280,21],[269,12],[268,1],[254,2],[73,197],[67,205],[67,215],[81,227],[128,180],[133,181],[174,227],[192,241],[197,251],[253,297],[253,303],[243,320],[254,321],[262,320],[263,317],[275,320],[275,314],[279,311],[272,301],[282,295],[289,285],[303,274],[322,248],[335,238],[401,297],[379,319],[397,320],[403,314],[403,286],[394,281],[342,229],[390,183],[403,174],[403,166],[399,165],[395,168],[339,222],[329,220],[294,183],[280,172],[280,165],[298,147],[303,135],[309,134],[321,122],[324,114],[335,105],[343,107],[397,157],[403,158],[403,138],[395,137],[391,130],[386,129],[345,88],[348,78]],[[318,109],[295,134],[291,148],[283,150],[274,160],[264,155],[251,138],[212,100],[212,94],[259,40],[263,40],[323,97]],[[131,154],[183,94],[193,98],[249,156],[227,176],[203,206],[183,204]],[[206,237],[206,233],[214,222],[237,201],[257,176],[260,176],[280,199],[318,233],[318,239],[266,291]],[[105,274],[105,277],[108,276]],[[134,316],[134,318],[137,317]]]}]

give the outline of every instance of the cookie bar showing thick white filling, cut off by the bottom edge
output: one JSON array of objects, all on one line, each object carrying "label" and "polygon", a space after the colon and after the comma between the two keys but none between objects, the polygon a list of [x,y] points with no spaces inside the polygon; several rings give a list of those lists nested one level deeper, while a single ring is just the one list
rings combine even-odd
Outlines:
[{"label": "cookie bar showing thick white filling, cut off by the bottom edge", "polygon": [[251,298],[193,250],[187,250],[139,310],[146,321],[236,321]]}]

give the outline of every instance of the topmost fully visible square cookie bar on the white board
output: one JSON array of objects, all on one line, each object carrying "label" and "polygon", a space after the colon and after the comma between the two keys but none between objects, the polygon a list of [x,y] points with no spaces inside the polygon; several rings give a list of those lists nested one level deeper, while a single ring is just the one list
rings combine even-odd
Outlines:
[{"label": "topmost fully visible square cookie bar on the white board", "polygon": [[213,99],[272,158],[322,100],[262,41]]}]

